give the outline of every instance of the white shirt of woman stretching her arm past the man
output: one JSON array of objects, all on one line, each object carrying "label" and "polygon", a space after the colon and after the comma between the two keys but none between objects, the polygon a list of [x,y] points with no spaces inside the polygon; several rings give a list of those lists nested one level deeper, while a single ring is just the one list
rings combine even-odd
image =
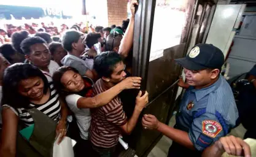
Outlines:
[{"label": "white shirt of woman stretching her arm past the man", "polygon": [[66,102],[68,104],[69,109],[75,114],[77,118],[77,125],[80,129],[80,136],[82,139],[88,139],[88,130],[91,124],[91,112],[90,109],[79,109],[77,107],[77,101],[82,96],[77,94],[71,94],[66,96]]}]

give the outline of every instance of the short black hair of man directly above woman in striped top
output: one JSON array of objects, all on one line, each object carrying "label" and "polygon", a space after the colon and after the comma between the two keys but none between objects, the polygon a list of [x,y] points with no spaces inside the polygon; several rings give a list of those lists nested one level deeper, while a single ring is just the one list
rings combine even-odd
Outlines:
[{"label": "short black hair of man directly above woman in striped top", "polygon": [[21,50],[25,55],[29,55],[30,47],[34,44],[47,44],[41,37],[28,37],[20,44]]}]

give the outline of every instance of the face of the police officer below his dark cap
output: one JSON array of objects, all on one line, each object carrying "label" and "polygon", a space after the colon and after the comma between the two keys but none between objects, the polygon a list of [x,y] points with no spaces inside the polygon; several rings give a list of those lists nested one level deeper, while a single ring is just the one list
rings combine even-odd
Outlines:
[{"label": "face of the police officer below his dark cap", "polygon": [[211,83],[211,72],[206,69],[201,71],[190,71],[184,68],[186,81],[190,86],[205,86]]}]

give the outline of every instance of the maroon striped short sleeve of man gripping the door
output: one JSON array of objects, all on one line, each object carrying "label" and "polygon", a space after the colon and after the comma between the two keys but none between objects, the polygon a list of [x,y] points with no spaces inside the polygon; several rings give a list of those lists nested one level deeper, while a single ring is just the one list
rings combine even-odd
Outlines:
[{"label": "maroon striped short sleeve of man gripping the door", "polygon": [[115,108],[106,114],[106,120],[117,126],[122,126],[127,123],[126,114],[123,111],[123,105],[115,105]]}]

